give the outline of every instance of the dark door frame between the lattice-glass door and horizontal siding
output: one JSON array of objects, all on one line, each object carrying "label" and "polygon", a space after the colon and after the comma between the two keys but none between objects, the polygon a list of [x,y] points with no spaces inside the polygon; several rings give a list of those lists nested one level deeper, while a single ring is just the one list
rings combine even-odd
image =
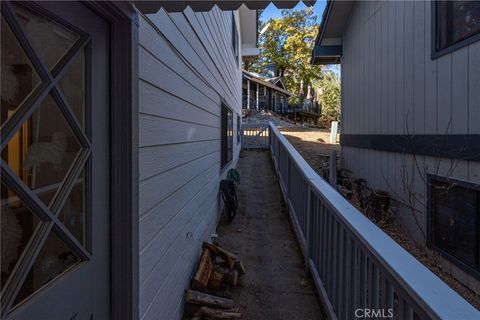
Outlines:
[{"label": "dark door frame between the lattice-glass door and horizontal siding", "polygon": [[110,24],[110,316],[136,320],[139,318],[138,13],[130,2],[85,4]]}]

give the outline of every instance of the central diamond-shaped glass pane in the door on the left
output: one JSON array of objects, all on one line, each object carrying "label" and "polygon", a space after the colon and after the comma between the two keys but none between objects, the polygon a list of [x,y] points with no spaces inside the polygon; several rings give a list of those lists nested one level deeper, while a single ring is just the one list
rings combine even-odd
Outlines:
[{"label": "central diamond-shaped glass pane in the door on the left", "polygon": [[82,146],[47,95],[4,149],[2,159],[49,206]]}]

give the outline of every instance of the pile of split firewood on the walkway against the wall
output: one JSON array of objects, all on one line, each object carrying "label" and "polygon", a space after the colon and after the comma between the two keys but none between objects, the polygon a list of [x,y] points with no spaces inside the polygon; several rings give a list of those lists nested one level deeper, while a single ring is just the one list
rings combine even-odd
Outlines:
[{"label": "pile of split firewood on the walkway against the wall", "polygon": [[237,320],[242,318],[230,297],[245,273],[239,257],[214,244],[204,242],[202,256],[190,289],[185,293],[185,312],[192,320]]}]

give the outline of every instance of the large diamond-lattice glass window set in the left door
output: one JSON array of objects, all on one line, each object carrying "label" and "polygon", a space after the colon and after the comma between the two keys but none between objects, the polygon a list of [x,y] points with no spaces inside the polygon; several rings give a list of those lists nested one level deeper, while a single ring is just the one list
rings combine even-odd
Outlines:
[{"label": "large diamond-lattice glass window set in the left door", "polygon": [[[0,154],[0,286],[3,291],[8,281],[22,277],[2,292],[2,298],[12,298],[13,307],[88,260],[77,252],[90,249],[90,40],[60,19],[20,3],[2,6],[0,25],[5,79],[0,95],[0,140],[5,143]],[[27,47],[35,51],[24,51]],[[54,72],[62,64],[64,72]],[[41,77],[39,68],[51,76]],[[46,223],[53,224],[51,231]],[[61,228],[67,231],[63,236],[64,231],[56,231]]]}]

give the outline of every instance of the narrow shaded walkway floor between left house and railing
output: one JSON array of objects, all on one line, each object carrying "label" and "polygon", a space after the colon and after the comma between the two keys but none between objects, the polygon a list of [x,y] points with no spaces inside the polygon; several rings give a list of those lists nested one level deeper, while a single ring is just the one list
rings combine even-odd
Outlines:
[{"label": "narrow shaded walkway floor between left house and railing", "polygon": [[221,245],[242,257],[247,273],[232,292],[245,320],[325,318],[305,270],[270,154],[242,151],[239,211],[218,228]]}]

